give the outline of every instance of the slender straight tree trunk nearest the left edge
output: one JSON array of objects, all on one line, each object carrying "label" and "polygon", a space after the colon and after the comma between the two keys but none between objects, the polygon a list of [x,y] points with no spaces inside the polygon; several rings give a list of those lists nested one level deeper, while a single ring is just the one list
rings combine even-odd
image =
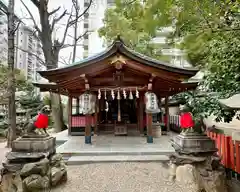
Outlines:
[{"label": "slender straight tree trunk nearest the left edge", "polygon": [[14,77],[14,0],[8,3],[8,136],[7,147],[12,146],[16,139],[16,106],[15,106],[15,77]]}]

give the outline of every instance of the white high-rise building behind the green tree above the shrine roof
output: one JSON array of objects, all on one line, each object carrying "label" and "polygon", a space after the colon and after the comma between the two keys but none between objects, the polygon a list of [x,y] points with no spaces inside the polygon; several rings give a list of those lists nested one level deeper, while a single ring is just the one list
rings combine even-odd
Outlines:
[{"label": "white high-rise building behind the green tree above the shrine roof", "polygon": [[[85,36],[83,40],[83,57],[92,56],[102,51],[106,44],[104,40],[99,37],[98,29],[103,26],[103,18],[105,10],[114,6],[114,0],[93,0],[93,4],[89,9],[89,12],[84,16],[84,31],[91,31],[91,33]],[[84,8],[89,5],[89,0],[84,0]],[[167,36],[173,31],[172,27],[166,27],[157,32],[152,43],[159,45],[159,54],[166,57],[167,60],[179,67],[190,67],[191,65],[184,59],[185,53],[183,50],[176,47],[170,47],[167,44]]]}]

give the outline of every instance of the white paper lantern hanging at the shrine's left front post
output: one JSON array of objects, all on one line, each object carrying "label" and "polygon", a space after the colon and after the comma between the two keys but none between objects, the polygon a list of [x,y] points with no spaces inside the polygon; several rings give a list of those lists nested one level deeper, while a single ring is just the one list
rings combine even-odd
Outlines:
[{"label": "white paper lantern hanging at the shrine's left front post", "polygon": [[96,96],[91,94],[90,92],[86,92],[79,97],[79,106],[81,108],[80,111],[83,114],[93,114],[95,113],[95,105],[96,105]]}]

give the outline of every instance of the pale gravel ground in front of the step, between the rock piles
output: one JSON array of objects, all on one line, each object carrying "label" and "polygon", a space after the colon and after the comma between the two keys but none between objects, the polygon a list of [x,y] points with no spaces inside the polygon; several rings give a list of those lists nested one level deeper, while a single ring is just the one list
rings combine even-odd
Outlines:
[{"label": "pale gravel ground in front of the step, between the rock piles", "polygon": [[168,180],[161,163],[68,166],[68,181],[51,192],[187,192]]}]

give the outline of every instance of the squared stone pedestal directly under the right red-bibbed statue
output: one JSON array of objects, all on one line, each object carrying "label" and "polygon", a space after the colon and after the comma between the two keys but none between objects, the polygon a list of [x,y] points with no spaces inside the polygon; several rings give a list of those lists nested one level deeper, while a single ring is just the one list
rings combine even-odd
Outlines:
[{"label": "squared stone pedestal directly under the right red-bibbed statue", "polygon": [[176,152],[181,154],[214,153],[215,143],[207,135],[198,133],[181,133],[171,140]]}]

